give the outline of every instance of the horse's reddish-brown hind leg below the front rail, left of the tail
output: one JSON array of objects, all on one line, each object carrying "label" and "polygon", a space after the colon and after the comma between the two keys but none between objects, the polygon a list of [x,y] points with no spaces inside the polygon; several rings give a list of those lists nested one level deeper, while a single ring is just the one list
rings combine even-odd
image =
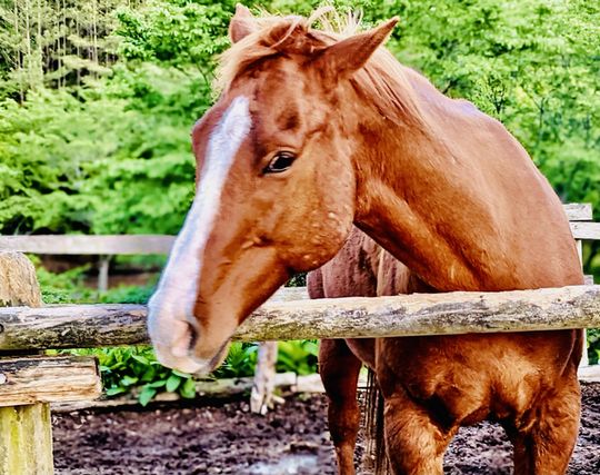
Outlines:
[{"label": "horse's reddish-brown hind leg below the front rail, left of the tail", "polygon": [[354,446],[360,424],[357,383],[362,363],[343,339],[323,339],[319,373],[329,399],[329,432],[340,475],[354,475]]}]

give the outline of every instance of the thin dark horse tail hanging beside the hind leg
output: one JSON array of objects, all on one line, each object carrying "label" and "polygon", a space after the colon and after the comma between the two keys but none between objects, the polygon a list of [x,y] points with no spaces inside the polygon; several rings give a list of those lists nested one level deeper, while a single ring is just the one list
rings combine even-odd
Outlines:
[{"label": "thin dark horse tail hanging beside the hind leg", "polygon": [[372,469],[374,475],[391,474],[386,455],[386,437],[383,433],[383,396],[379,389],[374,372],[369,368],[367,387],[364,392],[364,465]]}]

